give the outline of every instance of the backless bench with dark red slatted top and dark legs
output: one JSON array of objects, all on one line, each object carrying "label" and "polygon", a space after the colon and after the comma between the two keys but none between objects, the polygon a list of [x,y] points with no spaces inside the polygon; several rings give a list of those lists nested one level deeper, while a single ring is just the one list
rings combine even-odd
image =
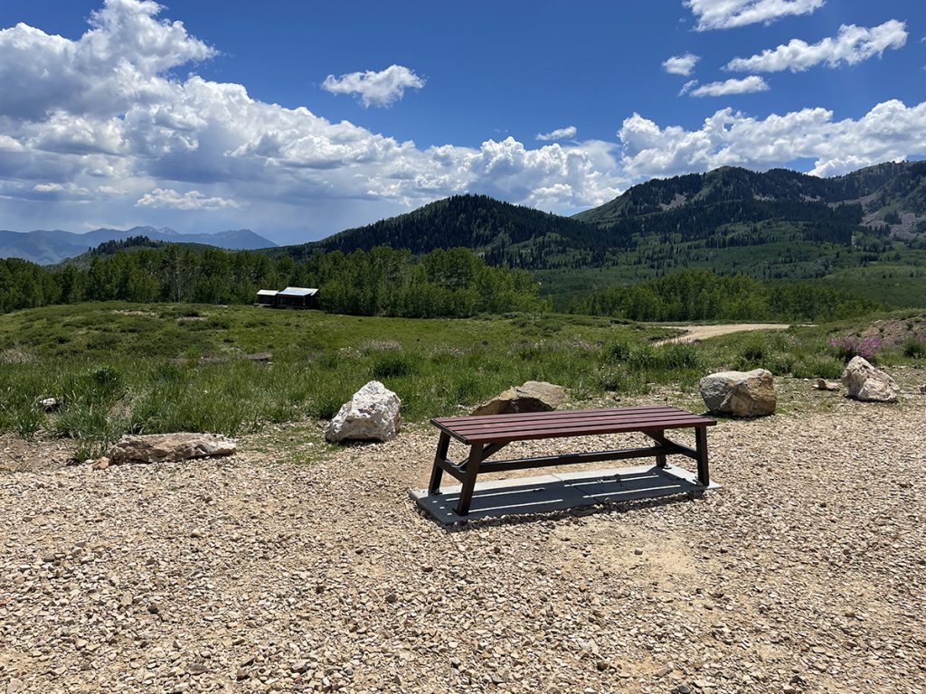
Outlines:
[{"label": "backless bench with dark red slatted top and dark legs", "polygon": [[[518,415],[485,415],[437,417],[431,423],[441,430],[430,494],[441,493],[444,472],[463,484],[457,502],[457,514],[469,514],[476,477],[490,472],[524,470],[550,465],[574,465],[605,460],[655,457],[659,467],[666,466],[666,456],[674,453],[697,461],[698,483],[707,488],[710,476],[707,470],[707,427],[717,424],[713,419],[693,415],[668,405],[642,405],[595,410],[565,410],[561,412],[524,413]],[[690,448],[666,438],[666,429],[694,428],[695,447]],[[512,441],[563,439],[574,436],[594,436],[639,431],[656,445],[647,448],[616,451],[567,453],[515,460],[489,461],[487,458],[501,451]],[[460,463],[447,459],[450,439],[469,446],[469,456]]]}]

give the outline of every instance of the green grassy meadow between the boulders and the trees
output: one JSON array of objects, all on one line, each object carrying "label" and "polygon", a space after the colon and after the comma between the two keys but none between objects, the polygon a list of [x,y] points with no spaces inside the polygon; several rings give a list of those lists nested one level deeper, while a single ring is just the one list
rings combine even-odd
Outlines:
[{"label": "green grassy meadow between the boulders and the trees", "polygon": [[[329,419],[372,378],[398,393],[412,422],[457,414],[528,379],[567,386],[581,402],[669,385],[694,391],[699,378],[721,368],[838,378],[873,322],[656,345],[676,330],[563,315],[408,319],[206,304],[47,306],[0,316],[0,430],[77,440],[75,458],[83,459],[127,432],[233,436]],[[926,316],[895,314],[891,325],[875,360],[926,364]],[[254,353],[272,358],[247,358]],[[46,397],[61,402],[56,412],[37,403]]]}]

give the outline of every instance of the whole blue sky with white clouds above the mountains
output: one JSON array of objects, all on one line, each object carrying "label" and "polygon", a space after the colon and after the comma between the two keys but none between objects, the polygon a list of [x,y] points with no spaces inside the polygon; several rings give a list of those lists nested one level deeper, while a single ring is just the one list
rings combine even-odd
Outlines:
[{"label": "whole blue sky with white clouds above the mountains", "polygon": [[569,214],[926,155],[920,2],[217,7],[0,4],[0,226],[302,242],[462,192]]}]

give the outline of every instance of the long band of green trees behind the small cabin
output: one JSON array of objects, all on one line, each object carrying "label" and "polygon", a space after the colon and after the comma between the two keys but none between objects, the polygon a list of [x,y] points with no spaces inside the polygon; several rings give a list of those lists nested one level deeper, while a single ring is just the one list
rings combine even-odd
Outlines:
[{"label": "long band of green trees behind the small cabin", "polygon": [[0,311],[111,300],[251,304],[258,289],[288,285],[319,288],[325,311],[365,316],[463,317],[546,305],[527,272],[487,266],[462,248],[416,257],[381,246],[302,262],[175,244],[117,242],[113,249],[51,268],[0,260]]}]

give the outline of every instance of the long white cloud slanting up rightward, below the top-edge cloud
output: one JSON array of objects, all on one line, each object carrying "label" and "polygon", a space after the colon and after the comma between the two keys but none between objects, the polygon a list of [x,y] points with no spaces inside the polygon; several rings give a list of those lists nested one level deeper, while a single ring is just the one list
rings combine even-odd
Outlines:
[{"label": "long white cloud slanting up rightward, below the top-edge cloud", "polygon": [[819,43],[792,39],[756,56],[733,58],[725,69],[739,72],[803,72],[821,64],[828,68],[838,68],[881,56],[888,48],[901,48],[905,43],[907,25],[896,19],[889,19],[870,29],[844,24],[835,37],[825,38]]}]

